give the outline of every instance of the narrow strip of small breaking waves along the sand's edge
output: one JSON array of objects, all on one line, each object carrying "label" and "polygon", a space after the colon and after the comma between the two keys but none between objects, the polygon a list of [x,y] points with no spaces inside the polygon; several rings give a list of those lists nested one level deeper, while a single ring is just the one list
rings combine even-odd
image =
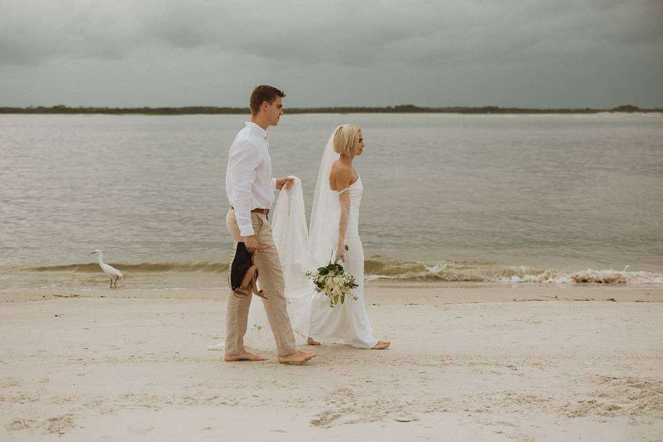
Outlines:
[{"label": "narrow strip of small breaking waves along the sand's edge", "polygon": [[[193,264],[118,265],[124,273],[119,289],[222,289],[227,265]],[[627,266],[628,267],[628,266]],[[423,262],[368,260],[368,287],[631,287],[663,288],[663,273],[627,269],[575,271],[499,266],[481,263],[428,265]],[[96,263],[55,267],[0,269],[0,296],[16,291],[90,291],[107,287],[108,279]]]}]

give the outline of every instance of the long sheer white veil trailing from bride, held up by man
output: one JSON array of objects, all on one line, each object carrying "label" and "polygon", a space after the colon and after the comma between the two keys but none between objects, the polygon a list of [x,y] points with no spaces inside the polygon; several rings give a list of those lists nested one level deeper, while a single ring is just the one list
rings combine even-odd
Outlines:
[{"label": "long sheer white veil trailing from bride, held up by man", "polygon": [[[335,133],[336,130],[329,137],[320,160],[310,231],[307,232],[302,182],[298,177],[290,191],[280,191],[272,212],[272,232],[285,278],[288,314],[298,345],[305,343],[308,337],[310,307],[315,294],[313,283],[305,273],[327,265],[338,239],[339,213],[335,209],[334,195],[329,191],[329,173],[338,159],[338,154],[334,153]],[[251,299],[244,345],[273,350],[276,343],[262,302],[257,296]],[[223,349],[224,345],[220,343],[207,348]]]}]

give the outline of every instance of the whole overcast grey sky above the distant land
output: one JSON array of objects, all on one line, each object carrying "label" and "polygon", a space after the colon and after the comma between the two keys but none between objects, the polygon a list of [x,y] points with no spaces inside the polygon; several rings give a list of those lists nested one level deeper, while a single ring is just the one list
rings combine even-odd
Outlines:
[{"label": "whole overcast grey sky above the distant land", "polygon": [[663,0],[0,0],[0,106],[663,107]]}]

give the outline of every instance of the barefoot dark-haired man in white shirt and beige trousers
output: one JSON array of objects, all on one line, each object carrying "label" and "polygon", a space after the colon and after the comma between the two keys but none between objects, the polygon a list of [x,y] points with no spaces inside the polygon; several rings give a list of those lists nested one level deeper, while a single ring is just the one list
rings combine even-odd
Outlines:
[{"label": "barefoot dark-haired man in white shirt and beige trousers", "polygon": [[[267,128],[276,126],[283,115],[282,97],[285,94],[272,86],[258,86],[251,93],[251,120],[235,137],[230,146],[226,173],[226,193],[231,208],[226,216],[228,231],[236,242],[244,242],[253,253],[258,267],[258,283],[264,291],[267,319],[276,340],[278,362],[303,364],[316,356],[298,350],[287,311],[285,282],[278,251],[269,224],[269,207],[274,201],[274,189],[290,189],[288,178],[271,177],[271,158]],[[226,314],[226,362],[265,361],[244,349],[251,295],[228,297]]]}]

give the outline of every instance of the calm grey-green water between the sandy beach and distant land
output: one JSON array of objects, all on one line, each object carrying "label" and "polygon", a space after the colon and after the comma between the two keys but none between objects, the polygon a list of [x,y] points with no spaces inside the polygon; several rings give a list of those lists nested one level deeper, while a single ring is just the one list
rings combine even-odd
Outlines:
[{"label": "calm grey-green water between the sandy beach and distant land", "polygon": [[[0,116],[0,289],[218,287],[242,115]],[[355,161],[369,278],[663,283],[663,115],[285,115],[274,175],[311,204],[332,130]],[[628,267],[627,267],[628,266]]]}]

